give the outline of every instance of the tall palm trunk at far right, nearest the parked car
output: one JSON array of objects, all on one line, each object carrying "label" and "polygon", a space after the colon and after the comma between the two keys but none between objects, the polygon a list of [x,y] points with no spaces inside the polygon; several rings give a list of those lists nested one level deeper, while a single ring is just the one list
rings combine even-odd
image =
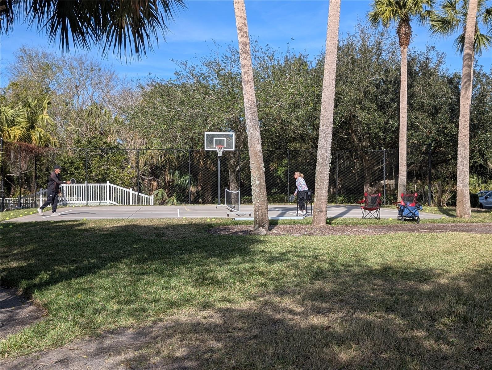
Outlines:
[{"label": "tall palm trunk at far right, nearest the parked car", "polygon": [[473,70],[473,38],[477,18],[477,0],[470,0],[464,33],[463,67],[461,70],[460,124],[458,126],[458,179],[456,216],[471,217],[470,209],[470,105]]}]

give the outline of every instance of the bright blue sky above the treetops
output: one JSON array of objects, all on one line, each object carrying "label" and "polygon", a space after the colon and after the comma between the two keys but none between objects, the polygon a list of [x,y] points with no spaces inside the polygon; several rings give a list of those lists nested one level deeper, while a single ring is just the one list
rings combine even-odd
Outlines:
[{"label": "bright blue sky above the treetops", "polygon": [[[149,73],[167,78],[172,77],[175,70],[171,59],[193,59],[206,55],[213,48],[212,40],[221,44],[232,41],[237,45],[232,1],[188,1],[187,4],[188,9],[180,12],[175,22],[169,24],[172,33],[167,36],[166,42],[159,42],[154,54],[128,64],[109,56],[103,60],[104,64],[113,65],[118,73],[131,78],[145,77]],[[340,32],[353,31],[358,19],[365,19],[369,4],[370,1],[342,0]],[[246,1],[249,33],[258,38],[261,44],[269,44],[280,51],[285,51],[287,43],[290,43],[290,48],[295,51],[316,55],[324,49],[328,5],[328,1]],[[413,30],[411,46],[424,49],[428,43],[435,45],[446,53],[450,70],[461,70],[461,57],[453,47],[454,37],[430,38],[427,30],[416,24]],[[59,51],[58,45],[49,45],[43,34],[28,30],[26,25],[17,24],[14,32],[2,37],[0,41],[1,86],[8,83],[3,67],[13,60],[13,53],[21,45]],[[96,50],[91,54],[100,58]],[[482,56],[480,63],[488,69],[492,64],[492,56]]]}]

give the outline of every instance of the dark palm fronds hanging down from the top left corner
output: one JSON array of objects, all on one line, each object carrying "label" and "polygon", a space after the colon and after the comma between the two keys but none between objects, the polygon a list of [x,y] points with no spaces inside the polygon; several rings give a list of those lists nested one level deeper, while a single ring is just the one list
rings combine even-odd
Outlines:
[{"label": "dark palm fronds hanging down from the top left corner", "polygon": [[69,50],[71,39],[76,49],[95,45],[103,55],[113,49],[130,58],[152,51],[173,14],[186,8],[183,0],[2,0],[0,5],[0,34],[26,22],[50,42],[58,39],[62,51]]}]

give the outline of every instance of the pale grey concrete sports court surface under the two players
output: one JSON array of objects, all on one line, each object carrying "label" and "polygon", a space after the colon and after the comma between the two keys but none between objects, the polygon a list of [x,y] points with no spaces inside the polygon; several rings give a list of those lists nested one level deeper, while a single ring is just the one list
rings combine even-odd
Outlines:
[{"label": "pale grey concrete sports court surface under the two players", "polygon": [[[8,212],[8,211],[6,211]],[[133,206],[75,206],[60,207],[58,212],[61,216],[52,216],[48,208],[43,216],[38,213],[18,217],[9,222],[31,222],[31,221],[57,221],[57,220],[95,220],[95,219],[131,219],[131,218],[241,218],[249,217],[253,212],[252,205],[241,205],[241,212],[230,213],[225,206],[215,205],[133,205]],[[295,218],[295,204],[269,204],[268,215],[271,218]],[[381,208],[381,218],[396,219],[398,210],[395,208]],[[362,213],[358,205],[328,205],[328,217],[353,217],[361,218]],[[438,219],[441,215],[420,212],[421,219]]]}]

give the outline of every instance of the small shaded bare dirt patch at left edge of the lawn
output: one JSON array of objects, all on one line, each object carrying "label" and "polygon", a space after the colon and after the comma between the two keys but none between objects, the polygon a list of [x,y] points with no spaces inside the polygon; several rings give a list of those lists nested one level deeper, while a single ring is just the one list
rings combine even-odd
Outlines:
[{"label": "small shaded bare dirt patch at left edge of the lawn", "polygon": [[17,289],[0,287],[0,338],[39,321],[45,312]]}]

